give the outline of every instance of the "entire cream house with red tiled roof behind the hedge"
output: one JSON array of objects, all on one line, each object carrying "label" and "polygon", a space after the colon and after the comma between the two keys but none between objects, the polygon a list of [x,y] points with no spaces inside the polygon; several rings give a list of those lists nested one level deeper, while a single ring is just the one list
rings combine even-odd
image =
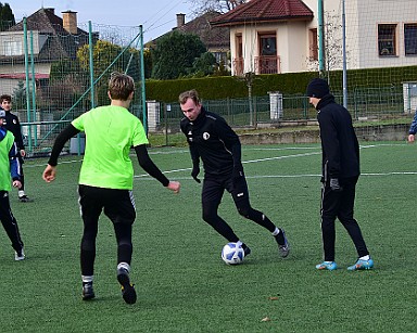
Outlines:
[{"label": "entire cream house with red tiled roof behind the hedge", "polygon": [[[342,69],[341,3],[248,0],[210,23],[230,29],[233,75]],[[350,0],[344,16],[350,69],[416,65],[417,1]]]}]

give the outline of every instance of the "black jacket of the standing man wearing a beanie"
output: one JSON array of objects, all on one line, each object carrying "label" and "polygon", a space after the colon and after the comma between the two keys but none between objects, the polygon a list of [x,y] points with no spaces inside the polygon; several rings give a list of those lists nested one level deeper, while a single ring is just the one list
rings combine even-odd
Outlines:
[{"label": "black jacket of the standing man wearing a beanie", "polygon": [[352,125],[351,114],[325,95],[316,106],[323,149],[323,176],[350,178],[359,176],[359,144]]}]

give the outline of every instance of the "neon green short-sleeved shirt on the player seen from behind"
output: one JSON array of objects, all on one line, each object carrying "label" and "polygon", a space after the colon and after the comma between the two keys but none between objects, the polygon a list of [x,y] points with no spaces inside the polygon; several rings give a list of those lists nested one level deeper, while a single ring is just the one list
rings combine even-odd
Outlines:
[{"label": "neon green short-sleeved shirt on the player seen from behind", "polygon": [[86,133],[79,183],[96,188],[131,190],[131,146],[147,144],[142,123],[122,106],[100,106],[71,123]]}]

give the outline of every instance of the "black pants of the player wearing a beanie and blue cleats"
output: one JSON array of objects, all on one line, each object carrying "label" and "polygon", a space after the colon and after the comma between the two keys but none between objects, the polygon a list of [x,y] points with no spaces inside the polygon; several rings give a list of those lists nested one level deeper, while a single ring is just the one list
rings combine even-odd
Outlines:
[{"label": "black pants of the player wearing a beanie and blue cleats", "polygon": [[336,218],[346,229],[358,257],[369,254],[359,225],[353,217],[357,179],[358,177],[340,179],[343,188],[340,192],[332,191],[328,182],[321,188],[321,235],[326,261],[334,261]]}]

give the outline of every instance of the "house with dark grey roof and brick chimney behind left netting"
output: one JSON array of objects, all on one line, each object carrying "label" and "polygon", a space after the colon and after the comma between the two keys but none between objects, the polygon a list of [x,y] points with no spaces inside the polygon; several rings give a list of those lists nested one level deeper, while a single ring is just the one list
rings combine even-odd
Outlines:
[{"label": "house with dark grey roof and brick chimney behind left netting", "polygon": [[[25,50],[35,64],[35,79],[39,87],[47,84],[51,65],[63,59],[75,59],[77,50],[88,44],[88,33],[77,27],[77,13],[65,11],[62,18],[54,9],[41,8],[26,17],[27,42],[24,21],[0,33],[0,89],[13,94],[18,81],[25,81]],[[31,69],[28,71],[31,77]]]}]

